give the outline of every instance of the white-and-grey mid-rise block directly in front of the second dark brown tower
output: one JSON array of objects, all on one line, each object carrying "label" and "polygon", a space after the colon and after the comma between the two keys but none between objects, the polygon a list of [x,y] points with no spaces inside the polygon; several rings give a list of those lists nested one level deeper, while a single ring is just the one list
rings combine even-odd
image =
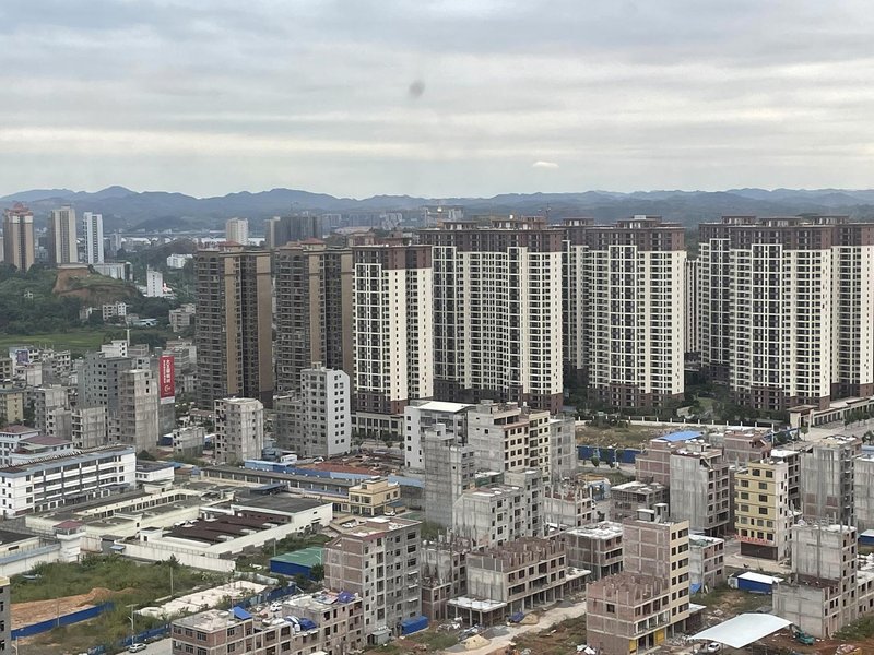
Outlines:
[{"label": "white-and-grey mid-rise block directly in front of the second dark brown tower", "polygon": [[342,455],[352,445],[351,384],[344,371],[316,362],[300,372],[299,393],[276,396],[276,443],[300,457]]}]

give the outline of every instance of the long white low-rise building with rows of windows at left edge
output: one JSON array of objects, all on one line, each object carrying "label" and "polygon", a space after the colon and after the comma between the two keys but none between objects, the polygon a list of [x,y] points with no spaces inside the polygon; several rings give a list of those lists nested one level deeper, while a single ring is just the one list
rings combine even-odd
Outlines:
[{"label": "long white low-rise building with rows of windows at left edge", "polygon": [[0,468],[0,511],[11,519],[101,498],[134,486],[129,446],[104,446]]}]

